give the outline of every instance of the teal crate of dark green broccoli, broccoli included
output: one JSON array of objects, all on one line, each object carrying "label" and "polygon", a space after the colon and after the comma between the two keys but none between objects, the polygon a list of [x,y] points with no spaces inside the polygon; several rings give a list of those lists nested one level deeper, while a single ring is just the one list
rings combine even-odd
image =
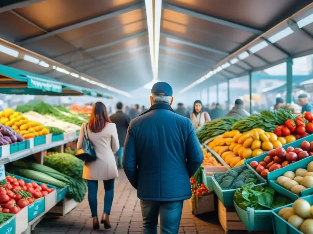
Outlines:
[{"label": "teal crate of dark green broccoli, broccoli included", "polygon": [[228,172],[217,172],[212,175],[214,193],[226,206],[233,206],[233,196],[237,188],[253,182],[259,184],[257,176],[245,165],[230,169]]}]

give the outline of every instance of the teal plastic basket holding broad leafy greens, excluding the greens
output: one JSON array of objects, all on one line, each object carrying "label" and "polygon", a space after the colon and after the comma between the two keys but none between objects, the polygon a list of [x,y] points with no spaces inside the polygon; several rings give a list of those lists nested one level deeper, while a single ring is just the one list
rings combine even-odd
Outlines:
[{"label": "teal plastic basket holding broad leafy greens, excluding the greens", "polygon": [[[267,183],[262,183],[257,186],[268,186]],[[254,188],[255,188],[254,187]],[[238,217],[243,222],[248,231],[266,231],[272,229],[272,211],[271,210],[254,210],[247,207],[247,210],[243,210],[237,206],[234,202],[234,207]]]}]

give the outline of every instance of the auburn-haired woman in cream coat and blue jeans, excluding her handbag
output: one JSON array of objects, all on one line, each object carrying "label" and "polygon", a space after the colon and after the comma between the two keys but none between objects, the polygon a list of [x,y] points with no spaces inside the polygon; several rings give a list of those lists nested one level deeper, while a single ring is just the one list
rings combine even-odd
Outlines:
[{"label": "auburn-haired woman in cream coat and blue jeans, excluding her handbag", "polygon": [[[120,148],[116,125],[111,122],[107,109],[102,102],[96,102],[88,123],[81,125],[77,149],[81,149],[84,137],[87,137],[95,149],[97,159],[85,162],[83,178],[88,184],[88,202],[93,217],[93,228],[99,229],[97,216],[97,191],[98,181],[104,183],[104,210],[101,223],[105,229],[111,228],[109,215],[114,196],[114,179],[118,177],[118,170],[114,153]],[[87,131],[84,131],[87,130]],[[86,135],[85,135],[86,134]]]}]

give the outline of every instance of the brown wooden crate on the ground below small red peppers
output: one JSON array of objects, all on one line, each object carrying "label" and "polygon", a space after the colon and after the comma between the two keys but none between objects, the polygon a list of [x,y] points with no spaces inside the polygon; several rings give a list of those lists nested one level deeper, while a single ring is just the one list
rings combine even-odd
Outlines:
[{"label": "brown wooden crate on the ground below small red peppers", "polygon": [[191,197],[189,199],[189,204],[191,208],[191,212],[193,215],[203,214],[207,212],[212,212],[215,210],[214,208],[214,194],[209,193],[203,197],[194,198]]}]

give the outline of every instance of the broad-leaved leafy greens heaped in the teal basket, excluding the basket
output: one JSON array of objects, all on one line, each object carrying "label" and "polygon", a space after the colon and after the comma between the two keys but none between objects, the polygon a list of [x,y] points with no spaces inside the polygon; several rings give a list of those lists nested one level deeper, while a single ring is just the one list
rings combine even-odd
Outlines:
[{"label": "broad-leaved leafy greens heaped in the teal basket, excluding the basket", "polygon": [[250,182],[241,188],[238,188],[234,194],[234,202],[243,210],[247,207],[254,210],[271,210],[277,207],[285,206],[291,201],[282,196],[276,196],[273,188],[257,186]]}]

